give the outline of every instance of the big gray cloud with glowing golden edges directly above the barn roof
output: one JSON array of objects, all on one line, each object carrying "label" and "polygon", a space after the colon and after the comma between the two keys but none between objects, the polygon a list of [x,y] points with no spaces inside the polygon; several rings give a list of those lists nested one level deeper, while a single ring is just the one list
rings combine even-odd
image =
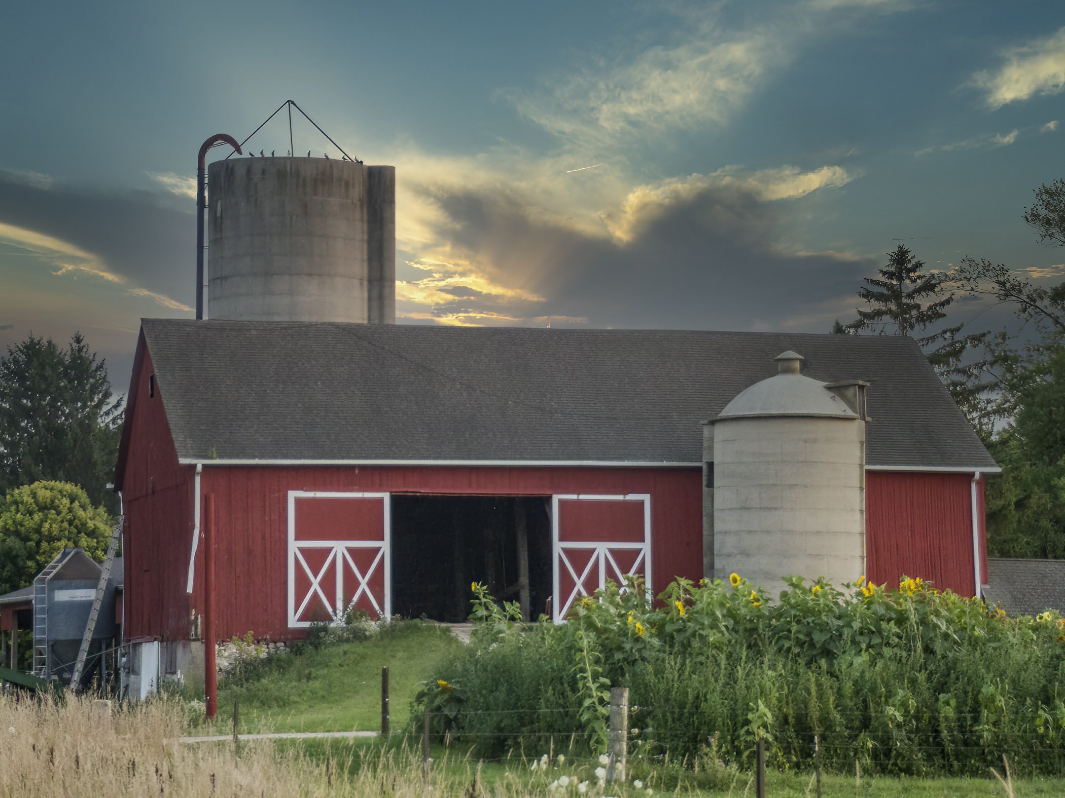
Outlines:
[{"label": "big gray cloud with glowing golden edges directly above the barn roof", "polygon": [[732,167],[634,187],[593,214],[597,227],[543,213],[505,184],[437,183],[423,199],[447,256],[411,264],[427,276],[397,286],[397,315],[446,325],[824,331],[853,315],[859,279],[875,264],[788,251],[781,236],[793,203],[785,200],[803,202],[850,179],[836,167]]}]

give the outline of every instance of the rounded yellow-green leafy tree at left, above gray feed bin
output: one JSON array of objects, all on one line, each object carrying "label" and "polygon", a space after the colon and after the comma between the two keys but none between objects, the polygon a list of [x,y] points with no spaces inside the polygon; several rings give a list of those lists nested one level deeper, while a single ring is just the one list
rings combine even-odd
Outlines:
[{"label": "rounded yellow-green leafy tree at left, above gray feed bin", "polygon": [[103,560],[111,518],[69,482],[34,482],[0,503],[0,594],[17,591],[68,546]]}]

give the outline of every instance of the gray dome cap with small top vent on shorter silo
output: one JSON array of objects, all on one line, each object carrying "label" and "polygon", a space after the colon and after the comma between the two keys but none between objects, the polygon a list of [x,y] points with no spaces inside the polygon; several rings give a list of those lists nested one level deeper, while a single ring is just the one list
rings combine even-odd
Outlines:
[{"label": "gray dome cap with small top vent on shorter silo", "polygon": [[716,421],[757,416],[858,418],[828,383],[799,373],[801,354],[788,350],[773,360],[780,364],[779,372],[737,394]]}]

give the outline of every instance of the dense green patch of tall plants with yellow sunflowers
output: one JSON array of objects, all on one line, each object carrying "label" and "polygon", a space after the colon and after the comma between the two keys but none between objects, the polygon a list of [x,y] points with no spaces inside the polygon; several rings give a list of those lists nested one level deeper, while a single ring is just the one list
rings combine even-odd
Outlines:
[{"label": "dense green patch of tall plants with yellow sunflowers", "polygon": [[[605,750],[610,685],[627,685],[644,757],[781,768],[986,772],[1003,754],[1054,771],[1065,754],[1065,619],[1010,617],[904,579],[841,589],[785,580],[771,601],[736,575],[634,580],[575,602],[564,625],[518,622],[475,585],[471,645],[415,699],[482,754]],[[439,680],[439,681],[438,681]],[[711,744],[712,741],[712,744]],[[561,748],[559,748],[561,746]]]}]

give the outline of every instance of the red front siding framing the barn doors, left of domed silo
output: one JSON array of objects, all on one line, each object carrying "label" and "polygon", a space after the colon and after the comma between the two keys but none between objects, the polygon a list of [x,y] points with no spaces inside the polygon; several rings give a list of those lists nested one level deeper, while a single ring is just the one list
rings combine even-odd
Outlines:
[{"label": "red front siding framing the barn doors, left of domed silo", "polygon": [[[275,639],[288,628],[288,495],[290,491],[425,493],[482,496],[650,494],[654,589],[674,576],[703,570],[702,475],[698,468],[576,467],[235,467],[204,465],[201,491],[214,493],[217,517],[217,634],[251,630]],[[184,563],[187,560],[185,545]],[[393,563],[402,568],[402,563]],[[182,563],[171,564],[185,572]],[[197,556],[193,606],[202,605],[202,558]],[[183,608],[166,586],[166,602]],[[129,585],[127,583],[127,589]],[[132,602],[132,599],[131,599]],[[129,612],[129,611],[127,611]]]}]

